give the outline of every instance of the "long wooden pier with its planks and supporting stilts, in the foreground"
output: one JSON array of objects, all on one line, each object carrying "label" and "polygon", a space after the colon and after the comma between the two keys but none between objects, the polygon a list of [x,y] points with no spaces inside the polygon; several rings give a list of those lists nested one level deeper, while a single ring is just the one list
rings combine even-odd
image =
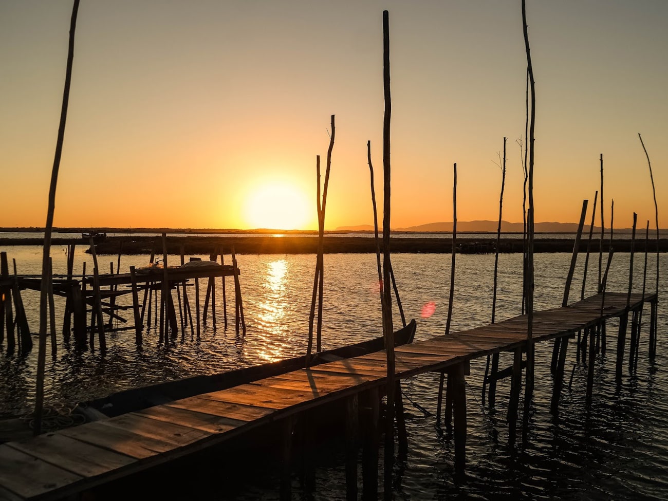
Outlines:
[{"label": "long wooden pier with its planks and supporting stilts, in the foreground", "polygon": [[[619,371],[619,361],[623,363],[627,353],[627,322],[624,320],[629,315],[635,317],[645,303],[651,305],[651,347],[657,325],[656,295],[643,297],[641,294],[607,292],[566,307],[534,313],[531,342],[554,340],[557,347],[553,411],[562,387],[568,340],[581,331],[589,334],[589,396],[597,353],[596,333],[605,333],[602,327],[607,319],[621,319],[617,335]],[[632,322],[631,349],[628,350],[629,367],[633,367],[639,341],[639,329],[637,324],[633,327],[634,324]],[[464,378],[468,375],[469,362],[500,351],[514,353],[508,408],[508,425],[514,433],[522,381],[522,352],[527,344],[527,316],[522,315],[395,348],[397,381],[428,371],[448,373],[450,391],[446,396],[446,425],[450,416],[454,416],[456,466],[463,468],[466,462]],[[340,402],[349,410],[347,430],[350,448],[355,452],[357,442],[354,438],[360,419],[359,398],[370,403],[371,413],[367,411],[363,420],[367,424],[367,436],[377,438],[375,427],[386,377],[385,363],[385,352],[379,351],[3,444],[0,446],[0,499],[50,500],[85,492],[111,480],[222,444],[232,437],[243,434],[250,439],[252,434],[248,432],[278,420],[285,424],[282,428],[285,434],[284,454],[289,458],[294,418],[307,409],[333,401]],[[369,426],[373,431],[371,434]],[[363,488],[368,494],[377,490],[377,439],[363,442],[363,456],[366,458]],[[349,454],[351,459],[346,468],[348,496],[353,499],[357,498],[356,457],[357,454]],[[376,470],[369,472],[374,465]],[[289,496],[289,482],[282,482],[281,498],[289,499]]]}]

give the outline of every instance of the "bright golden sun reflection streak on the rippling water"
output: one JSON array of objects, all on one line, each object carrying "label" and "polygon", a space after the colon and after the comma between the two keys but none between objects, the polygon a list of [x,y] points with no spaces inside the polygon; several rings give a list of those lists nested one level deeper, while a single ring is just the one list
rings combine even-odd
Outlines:
[{"label": "bright golden sun reflection streak on the rippling water", "polygon": [[267,263],[267,275],[263,282],[265,300],[259,305],[258,318],[264,342],[263,349],[258,355],[270,362],[285,358],[286,348],[291,341],[284,322],[288,277],[288,265],[285,259]]}]

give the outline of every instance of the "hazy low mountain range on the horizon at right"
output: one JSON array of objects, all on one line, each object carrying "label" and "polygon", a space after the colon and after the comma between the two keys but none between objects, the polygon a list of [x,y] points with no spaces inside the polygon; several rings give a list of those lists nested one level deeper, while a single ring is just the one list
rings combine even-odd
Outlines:
[{"label": "hazy low mountain range on the horizon at right", "polygon": [[[472,233],[496,233],[498,221],[458,221],[458,232]],[[380,228],[379,228],[380,229]],[[578,224],[576,222],[536,222],[534,231],[538,233],[576,233]],[[358,226],[339,226],[336,231],[373,231],[371,224],[360,224]],[[452,232],[452,222],[430,222],[420,226],[409,226],[407,228],[392,228],[395,232]],[[524,224],[521,222],[501,221],[501,231],[504,233],[522,233]],[[661,230],[663,232],[664,230]],[[585,224],[583,232],[589,232],[589,224]],[[594,226],[594,233],[601,232],[601,226]],[[631,228],[615,228],[615,232],[631,232]]]}]

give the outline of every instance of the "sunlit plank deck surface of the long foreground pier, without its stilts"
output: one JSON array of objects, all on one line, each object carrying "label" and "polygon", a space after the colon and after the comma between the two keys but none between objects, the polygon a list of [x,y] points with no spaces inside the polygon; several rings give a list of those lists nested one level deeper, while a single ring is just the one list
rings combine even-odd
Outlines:
[{"label": "sunlit plank deck surface of the long foreground pier, without its stilts", "polygon": [[[534,341],[572,335],[655,301],[606,293],[534,315]],[[603,312],[603,314],[602,314]],[[397,377],[442,370],[516,349],[527,340],[526,315],[395,348]],[[58,499],[190,454],[239,433],[385,381],[385,352],[299,369],[180,399],[142,411],[0,445],[0,500]]]}]

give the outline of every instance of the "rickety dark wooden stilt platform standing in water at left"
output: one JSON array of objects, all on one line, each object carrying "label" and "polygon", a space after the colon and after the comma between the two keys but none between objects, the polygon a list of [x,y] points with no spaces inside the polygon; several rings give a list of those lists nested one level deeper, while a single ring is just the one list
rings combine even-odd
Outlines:
[{"label": "rickety dark wooden stilt platform standing in water at left", "polygon": [[[80,349],[94,348],[96,339],[98,347],[106,349],[106,333],[118,330],[134,330],[136,343],[142,345],[144,327],[150,328],[152,322],[158,327],[160,342],[168,346],[180,332],[182,337],[190,329],[190,333],[200,335],[202,323],[206,323],[210,311],[212,324],[216,327],[216,279],[221,278],[222,307],[224,327],[228,325],[227,293],[225,277],[232,277],[234,282],[234,323],[236,333],[246,332],[243,313],[240,270],[236,254],[232,249],[232,263],[224,264],[224,258],[216,248],[210,261],[190,258],[185,262],[181,253],[180,266],[166,265],[166,253],[162,263],[154,262],[151,255],[146,267],[136,269],[130,267],[129,273],[114,273],[114,263],[110,263],[110,273],[101,273],[95,253],[95,245],[91,244],[94,257],[94,269],[86,274],[86,263],[80,274],[73,273],[73,257],[75,244],[68,246],[67,273],[51,276],[49,287],[49,305],[53,313],[53,296],[65,299],[65,310],[62,320],[63,341],[69,342],[73,337],[75,345]],[[39,291],[41,276],[18,275],[16,263],[14,273],[9,273],[7,253],[0,253],[0,343],[6,340],[7,353],[27,353],[32,348],[31,330],[29,327],[21,291]],[[200,301],[200,280],[206,280],[206,294]],[[194,298],[188,297],[188,289],[194,287]],[[176,296],[176,297],[175,297]],[[128,300],[119,301],[126,297]],[[131,299],[129,299],[131,298]],[[191,301],[194,305],[191,305]],[[154,308],[154,309],[153,309]],[[152,311],[153,309],[153,311]],[[123,311],[131,311],[132,317],[122,316]],[[159,313],[159,315],[158,315]],[[194,318],[194,320],[193,320]],[[114,327],[114,323],[128,324]],[[158,325],[159,322],[159,325]],[[55,324],[52,318],[51,323]],[[97,335],[97,336],[96,336]],[[51,347],[56,349],[55,327],[51,328]]]}]

